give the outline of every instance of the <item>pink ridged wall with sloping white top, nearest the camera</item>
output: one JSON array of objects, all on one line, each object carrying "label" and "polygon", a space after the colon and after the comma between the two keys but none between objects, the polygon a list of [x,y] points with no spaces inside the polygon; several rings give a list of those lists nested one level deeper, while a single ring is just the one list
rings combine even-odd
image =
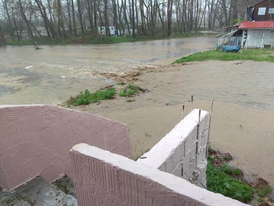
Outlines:
[{"label": "pink ridged wall with sloping white top, nearest the camera", "polygon": [[70,150],[79,206],[244,206],[146,164],[87,144]]}]

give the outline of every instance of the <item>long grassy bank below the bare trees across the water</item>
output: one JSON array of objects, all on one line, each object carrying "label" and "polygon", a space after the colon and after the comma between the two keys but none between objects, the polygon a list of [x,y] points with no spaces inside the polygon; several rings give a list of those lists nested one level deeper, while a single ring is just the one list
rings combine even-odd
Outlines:
[{"label": "long grassy bank below the bare trees across the water", "polygon": [[[171,38],[190,38],[190,37],[198,37],[203,36],[205,34],[202,33],[183,33],[183,34],[174,34]],[[8,41],[5,42],[5,45],[9,46],[24,46],[24,45],[68,45],[68,44],[118,44],[118,43],[126,43],[126,42],[141,42],[141,41],[149,41],[149,40],[159,40],[159,39],[167,39],[168,37],[162,37],[161,35],[156,35],[156,37],[150,36],[141,36],[137,35],[136,38],[132,37],[108,37],[105,35],[99,36],[81,36],[81,37],[69,37],[66,39],[49,39],[47,37],[42,38],[33,38],[33,39],[25,39],[22,41]]]}]

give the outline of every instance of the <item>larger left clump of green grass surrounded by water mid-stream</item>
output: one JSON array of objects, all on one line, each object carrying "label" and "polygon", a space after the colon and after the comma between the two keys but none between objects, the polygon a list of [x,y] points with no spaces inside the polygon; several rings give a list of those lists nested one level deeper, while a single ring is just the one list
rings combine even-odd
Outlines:
[{"label": "larger left clump of green grass surrounded by water mid-stream", "polygon": [[70,104],[72,104],[73,106],[78,106],[97,103],[100,100],[111,99],[115,94],[116,92],[114,88],[100,90],[97,92],[90,92],[88,89],[86,89],[85,92],[80,92],[76,98],[71,97],[67,101],[67,105],[70,106]]}]

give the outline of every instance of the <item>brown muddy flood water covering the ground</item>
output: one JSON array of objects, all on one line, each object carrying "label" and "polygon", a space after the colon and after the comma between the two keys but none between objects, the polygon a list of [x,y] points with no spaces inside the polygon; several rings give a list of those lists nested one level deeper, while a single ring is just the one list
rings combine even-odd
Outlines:
[{"label": "brown muddy flood water covering the ground", "polygon": [[[135,156],[150,149],[181,119],[183,104],[210,110],[210,142],[230,152],[233,166],[274,186],[274,63],[206,61],[170,65],[214,48],[216,38],[185,38],[117,45],[0,48],[0,104],[63,105],[70,96],[117,81],[151,92],[72,107],[125,122]],[[153,72],[148,72],[153,71]],[[117,91],[123,86],[115,86]]]}]

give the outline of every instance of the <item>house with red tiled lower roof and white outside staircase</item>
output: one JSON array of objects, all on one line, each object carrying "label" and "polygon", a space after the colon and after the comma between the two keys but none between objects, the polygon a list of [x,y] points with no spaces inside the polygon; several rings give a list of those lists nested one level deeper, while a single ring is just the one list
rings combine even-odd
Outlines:
[{"label": "house with red tiled lower roof and white outside staircase", "polygon": [[219,38],[218,45],[242,48],[274,48],[274,0],[264,0],[245,10],[245,20],[237,29]]}]

